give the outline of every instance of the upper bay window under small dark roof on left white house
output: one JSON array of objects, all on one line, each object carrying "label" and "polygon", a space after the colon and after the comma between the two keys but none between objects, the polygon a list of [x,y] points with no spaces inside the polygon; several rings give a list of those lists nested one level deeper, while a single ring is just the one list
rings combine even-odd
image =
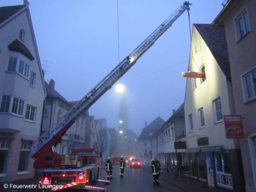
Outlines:
[{"label": "upper bay window under small dark roof on left white house", "polygon": [[[19,63],[17,69],[17,63]],[[20,75],[28,78],[30,66],[20,58],[10,57],[7,71],[18,72]],[[17,71],[18,70],[18,71]]]}]

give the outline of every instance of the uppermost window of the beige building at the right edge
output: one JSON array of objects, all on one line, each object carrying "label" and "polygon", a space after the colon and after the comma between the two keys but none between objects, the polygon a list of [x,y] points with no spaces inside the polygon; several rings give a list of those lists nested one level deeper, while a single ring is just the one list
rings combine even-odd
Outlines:
[{"label": "uppermost window of the beige building at the right edge", "polygon": [[[244,16],[245,14],[246,14],[247,18],[245,18],[245,16]],[[243,19],[243,23],[242,23],[243,26],[240,26],[240,23],[239,23],[240,19]],[[244,22],[245,19],[246,19],[246,22]],[[246,25],[248,25],[248,26],[246,26]],[[244,36],[246,36],[246,34],[248,34],[251,31],[249,15],[248,15],[246,6],[235,17],[235,19],[234,19],[234,26],[235,26],[236,41],[237,42],[240,39],[242,39]],[[241,34],[241,28],[245,31],[245,34]]]}]

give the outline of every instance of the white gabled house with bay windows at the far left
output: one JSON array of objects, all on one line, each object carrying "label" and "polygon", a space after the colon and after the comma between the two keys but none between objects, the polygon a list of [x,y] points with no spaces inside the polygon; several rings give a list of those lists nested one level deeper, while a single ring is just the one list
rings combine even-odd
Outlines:
[{"label": "white gabled house with bay windows at the far left", "polygon": [[0,178],[34,177],[46,90],[29,3],[0,7]]}]

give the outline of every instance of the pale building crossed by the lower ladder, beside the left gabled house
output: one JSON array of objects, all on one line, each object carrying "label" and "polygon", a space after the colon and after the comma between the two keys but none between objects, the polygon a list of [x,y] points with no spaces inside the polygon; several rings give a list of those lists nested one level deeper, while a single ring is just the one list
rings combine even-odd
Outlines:
[{"label": "pale building crossed by the lower ladder, beside the left gabled house", "polygon": [[[45,82],[45,87],[47,96],[44,102],[42,134],[77,103],[77,101],[68,102],[63,98],[55,90],[53,79],[49,84]],[[68,155],[71,154],[71,149],[91,148],[91,134],[89,112],[86,110],[63,135],[61,143],[56,146],[57,153]]]}]

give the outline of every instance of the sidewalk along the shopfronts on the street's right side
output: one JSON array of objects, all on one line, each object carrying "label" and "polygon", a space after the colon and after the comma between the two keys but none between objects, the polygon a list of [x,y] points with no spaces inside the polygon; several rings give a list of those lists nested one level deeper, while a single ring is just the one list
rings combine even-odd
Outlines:
[{"label": "sidewalk along the shopfronts on the street's right side", "polygon": [[[142,165],[141,168],[151,173],[151,167],[149,164]],[[182,176],[180,180],[178,178],[172,178],[171,175],[169,175],[165,169],[162,169],[162,170],[163,170],[163,174],[160,175],[161,179],[170,183],[171,185],[180,187],[183,190],[188,192],[227,192],[227,191],[230,192],[230,190],[228,189],[223,189],[220,187],[211,187],[211,186],[208,186],[207,183],[205,182],[195,181],[186,176]]]}]

